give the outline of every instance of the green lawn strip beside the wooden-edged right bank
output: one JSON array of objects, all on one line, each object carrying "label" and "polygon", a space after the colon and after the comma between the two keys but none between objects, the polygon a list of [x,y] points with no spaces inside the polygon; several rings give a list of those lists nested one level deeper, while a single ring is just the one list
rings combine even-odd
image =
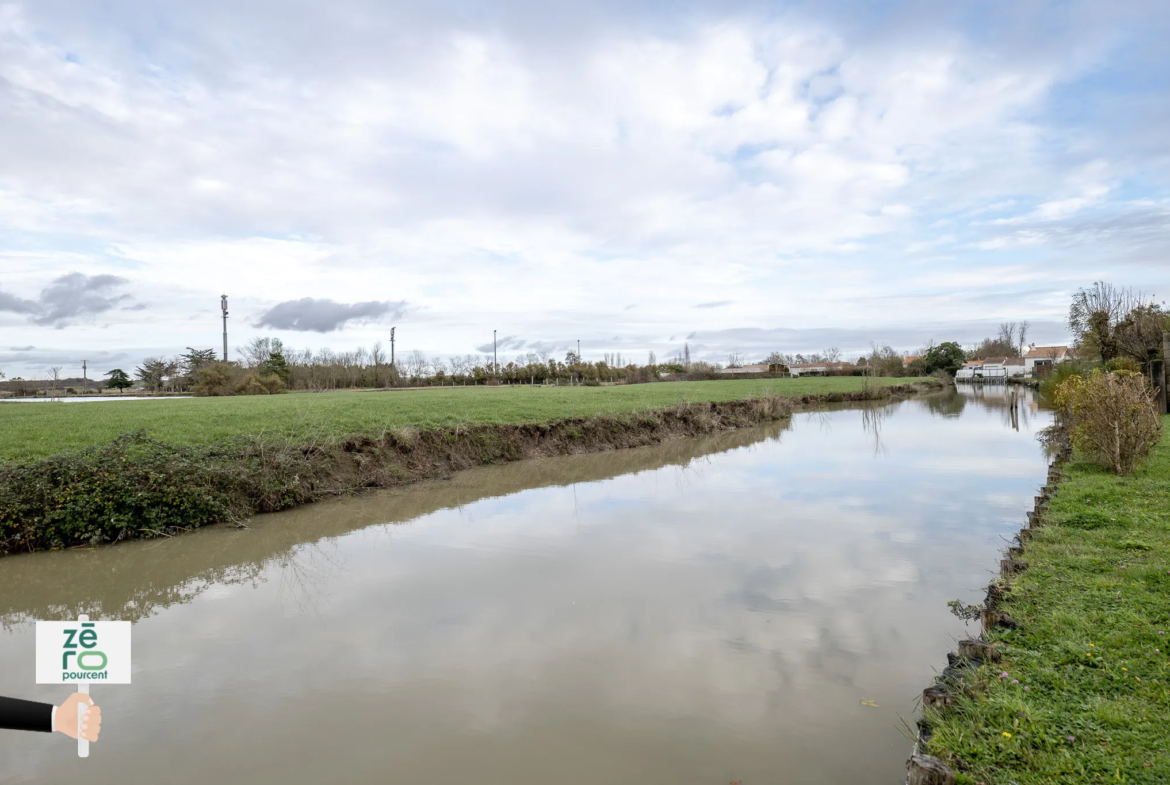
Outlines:
[{"label": "green lawn strip beside the wooden-edged right bank", "polygon": [[1020,628],[991,635],[1004,657],[979,672],[973,698],[932,715],[930,752],[970,766],[961,783],[1170,783],[1164,425],[1129,477],[1066,468],[1004,606]]}]

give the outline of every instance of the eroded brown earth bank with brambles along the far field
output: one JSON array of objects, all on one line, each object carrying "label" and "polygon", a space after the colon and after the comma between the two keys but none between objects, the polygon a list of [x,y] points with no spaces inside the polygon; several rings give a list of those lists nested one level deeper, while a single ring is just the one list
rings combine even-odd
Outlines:
[{"label": "eroded brown earth bank with brambles along the far field", "polygon": [[101,447],[0,468],[0,553],[173,536],[472,466],[654,445],[771,422],[799,408],[940,388],[927,380],[544,422],[405,426],[310,440],[260,434],[209,446],[126,434]]}]

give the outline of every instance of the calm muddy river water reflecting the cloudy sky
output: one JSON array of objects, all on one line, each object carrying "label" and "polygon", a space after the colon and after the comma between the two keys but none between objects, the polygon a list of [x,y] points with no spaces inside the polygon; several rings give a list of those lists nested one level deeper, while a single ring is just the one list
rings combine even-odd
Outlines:
[{"label": "calm muddy river water reflecting the cloudy sky", "polygon": [[[484,467],[170,540],[0,559],[33,619],[133,626],[88,759],[0,783],[897,783],[903,723],[1044,482],[1048,415],[966,390]],[[1017,429],[1018,428],[1018,429]]]}]

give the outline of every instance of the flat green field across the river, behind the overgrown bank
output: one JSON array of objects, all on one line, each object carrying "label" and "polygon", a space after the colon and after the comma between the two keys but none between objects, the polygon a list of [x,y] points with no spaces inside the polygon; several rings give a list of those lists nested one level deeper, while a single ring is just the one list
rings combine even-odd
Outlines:
[{"label": "flat green field across the river, behind the overgrown bank", "polygon": [[[900,384],[913,379],[879,379]],[[415,426],[539,422],[724,401],[769,393],[861,390],[860,377],[676,381],[612,387],[447,387],[392,392],[297,393],[151,401],[0,404],[0,459],[27,461],[104,445],[145,429],[174,445],[208,445],[241,434],[349,436]]]}]

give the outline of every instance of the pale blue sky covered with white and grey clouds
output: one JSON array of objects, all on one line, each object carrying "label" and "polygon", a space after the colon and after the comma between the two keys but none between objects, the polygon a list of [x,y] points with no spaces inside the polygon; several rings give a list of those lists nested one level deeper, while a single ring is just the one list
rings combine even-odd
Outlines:
[{"label": "pale blue sky covered with white and grey clouds", "polygon": [[1170,292],[1168,34],[1163,0],[0,0],[0,372],[219,350],[222,294],[233,358],[1067,343],[1078,288]]}]

